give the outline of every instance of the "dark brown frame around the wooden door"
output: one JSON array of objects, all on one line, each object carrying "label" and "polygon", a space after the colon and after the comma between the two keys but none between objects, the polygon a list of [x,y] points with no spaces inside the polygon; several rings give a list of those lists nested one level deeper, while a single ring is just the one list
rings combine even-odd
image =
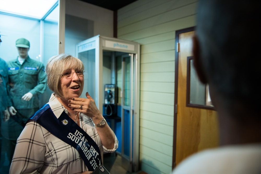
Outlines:
[{"label": "dark brown frame around the wooden door", "polygon": [[176,166],[176,135],[177,135],[177,92],[178,92],[178,69],[179,69],[179,34],[195,31],[195,27],[180,29],[175,32],[175,86],[174,86],[174,124],[173,124],[173,151],[172,170]]}]

